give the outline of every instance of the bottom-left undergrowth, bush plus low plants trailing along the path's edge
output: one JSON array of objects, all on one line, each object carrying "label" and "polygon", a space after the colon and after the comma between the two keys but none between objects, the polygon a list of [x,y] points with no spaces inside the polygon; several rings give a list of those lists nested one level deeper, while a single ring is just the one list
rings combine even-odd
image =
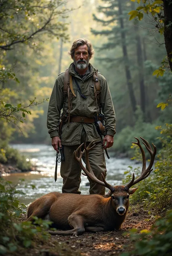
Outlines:
[{"label": "bottom-left undergrowth, bush plus low plants trailing along the path's edge", "polygon": [[34,217],[33,224],[21,222],[26,207],[17,200],[19,193],[22,192],[16,190],[12,182],[0,178],[0,255],[30,255],[30,249],[33,249],[33,254],[34,249],[39,249],[39,255],[54,250],[61,256],[79,256],[79,252],[72,252],[66,244],[64,246],[54,241],[52,245],[46,231],[52,222],[37,217]]}]

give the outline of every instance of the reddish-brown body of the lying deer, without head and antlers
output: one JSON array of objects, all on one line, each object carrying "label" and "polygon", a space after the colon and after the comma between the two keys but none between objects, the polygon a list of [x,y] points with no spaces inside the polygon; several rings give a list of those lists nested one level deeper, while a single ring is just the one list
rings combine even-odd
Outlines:
[{"label": "reddish-brown body of the lying deer, without head and antlers", "polygon": [[79,219],[83,227],[81,233],[85,230],[111,231],[120,228],[127,209],[124,215],[117,214],[116,205],[111,197],[51,192],[30,204],[28,221],[32,221],[32,217],[37,216],[49,219],[58,229],[69,229],[71,228],[71,219],[74,222]]}]

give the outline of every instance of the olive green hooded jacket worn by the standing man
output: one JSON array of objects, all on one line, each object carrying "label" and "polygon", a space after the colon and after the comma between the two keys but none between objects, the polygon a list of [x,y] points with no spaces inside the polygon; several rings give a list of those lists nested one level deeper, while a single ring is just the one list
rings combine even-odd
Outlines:
[{"label": "olive green hooded jacket worn by the standing man", "polygon": [[[77,89],[77,86],[73,80],[73,89],[76,97],[71,99],[72,108],[70,111],[71,116],[85,116],[89,118],[96,117],[97,107],[94,95],[93,86],[93,74],[94,68],[89,64],[90,73],[83,80],[77,75],[74,70],[74,64],[69,66],[69,74],[75,77],[77,80],[82,94],[86,96],[83,99]],[[64,77],[65,73],[61,73],[55,82],[48,107],[48,117],[47,117],[47,127],[50,137],[58,136],[59,121],[61,115],[61,109],[65,114],[68,110],[68,98],[64,99],[63,87],[64,87]],[[100,81],[101,93],[100,93],[100,105],[102,108],[102,113],[105,115],[105,129],[106,134],[114,136],[115,132],[115,111],[112,103],[110,91],[107,85],[107,81],[102,74],[98,73],[98,79]],[[61,143],[62,145],[79,145],[81,143],[81,133],[85,130],[87,141],[93,141],[94,139],[100,139],[99,134],[96,130],[94,123],[78,123],[70,122],[69,125],[65,123],[62,127],[61,133]]]}]

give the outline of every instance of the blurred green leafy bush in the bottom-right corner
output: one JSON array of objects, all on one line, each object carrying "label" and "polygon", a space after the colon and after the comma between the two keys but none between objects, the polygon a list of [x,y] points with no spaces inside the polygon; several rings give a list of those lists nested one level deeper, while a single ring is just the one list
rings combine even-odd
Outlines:
[{"label": "blurred green leafy bush in the bottom-right corner", "polygon": [[135,241],[132,252],[124,252],[121,256],[171,256],[172,255],[172,211],[167,218],[158,219],[152,226],[151,231],[144,229],[130,231],[131,238]]}]

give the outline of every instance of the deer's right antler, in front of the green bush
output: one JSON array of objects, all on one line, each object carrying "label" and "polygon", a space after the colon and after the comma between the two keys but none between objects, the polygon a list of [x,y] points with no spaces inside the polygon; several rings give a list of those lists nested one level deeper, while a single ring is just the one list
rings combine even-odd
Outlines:
[{"label": "deer's right antler, in front of the green bush", "polygon": [[142,166],[142,172],[140,174],[140,176],[135,180],[135,176],[134,176],[134,173],[132,175],[132,180],[130,183],[128,183],[125,188],[128,190],[130,187],[132,187],[133,185],[139,183],[141,180],[143,179],[146,179],[147,176],[150,175],[151,171],[153,169],[152,168],[152,165],[153,165],[153,162],[155,160],[155,155],[156,155],[156,146],[153,145],[152,143],[152,146],[153,146],[153,151],[152,151],[152,148],[150,146],[150,144],[146,141],[146,139],[143,139],[142,137],[140,137],[140,139],[142,139],[144,142],[142,142],[144,144],[144,146],[146,147],[146,149],[149,151],[150,155],[151,155],[151,160],[150,160],[150,164],[149,166],[147,167],[146,169],[146,157],[145,157],[145,152],[143,150],[143,147],[140,145],[140,141],[138,138],[134,137],[138,142],[131,142],[131,143],[134,143],[136,145],[139,146],[140,148],[140,151],[142,153],[142,159],[143,159],[143,166]]}]

